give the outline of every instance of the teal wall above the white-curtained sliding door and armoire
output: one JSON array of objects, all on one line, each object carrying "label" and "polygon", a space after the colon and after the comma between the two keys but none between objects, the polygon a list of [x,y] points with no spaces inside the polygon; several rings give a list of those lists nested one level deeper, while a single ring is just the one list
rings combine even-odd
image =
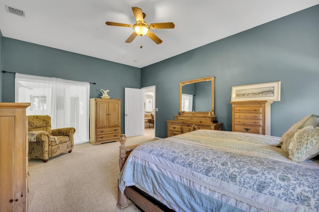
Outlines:
[{"label": "teal wall above the white-curtained sliding door and armoire", "polygon": [[[124,114],[124,88],[141,88],[140,68],[7,37],[3,37],[2,40],[3,70],[96,83],[96,85],[90,84],[90,98],[100,98],[101,89],[110,90],[108,95],[112,99],[123,100],[122,114]],[[2,102],[14,102],[14,74],[2,74],[1,87]]]}]

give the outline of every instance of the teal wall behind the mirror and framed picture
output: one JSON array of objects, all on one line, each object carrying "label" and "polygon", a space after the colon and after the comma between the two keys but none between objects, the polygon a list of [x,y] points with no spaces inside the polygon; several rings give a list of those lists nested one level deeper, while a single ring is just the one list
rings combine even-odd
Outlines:
[{"label": "teal wall behind the mirror and framed picture", "polygon": [[271,105],[273,136],[319,114],[319,5],[142,68],[141,87],[156,85],[156,136],[166,137],[165,120],[178,112],[178,83],[209,76],[216,77],[223,130],[231,131],[232,86],[281,81],[281,101]]}]

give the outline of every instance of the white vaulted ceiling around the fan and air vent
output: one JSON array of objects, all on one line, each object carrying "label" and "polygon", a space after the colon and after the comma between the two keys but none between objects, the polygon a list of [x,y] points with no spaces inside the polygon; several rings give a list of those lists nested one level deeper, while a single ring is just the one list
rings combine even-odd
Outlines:
[{"label": "white vaulted ceiling around the fan and air vent", "polygon": [[[143,68],[191,49],[319,4],[319,0],[0,0],[4,37]],[[5,5],[23,10],[8,13]],[[132,6],[150,23],[174,22],[174,29],[151,29],[163,42],[136,37]],[[140,48],[140,45],[143,48]]]}]

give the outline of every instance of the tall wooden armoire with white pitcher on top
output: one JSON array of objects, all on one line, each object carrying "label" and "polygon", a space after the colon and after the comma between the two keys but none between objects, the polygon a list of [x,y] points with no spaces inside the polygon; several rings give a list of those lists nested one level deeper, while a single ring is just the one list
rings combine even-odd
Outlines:
[{"label": "tall wooden armoire with white pitcher on top", "polygon": [[90,99],[90,143],[119,141],[121,100]]}]

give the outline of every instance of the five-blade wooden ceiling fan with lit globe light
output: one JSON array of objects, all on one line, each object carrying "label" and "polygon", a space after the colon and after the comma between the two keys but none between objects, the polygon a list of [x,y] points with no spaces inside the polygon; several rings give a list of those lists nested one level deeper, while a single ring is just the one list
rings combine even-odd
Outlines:
[{"label": "five-blade wooden ceiling fan with lit globe light", "polygon": [[[148,24],[144,21],[144,18],[146,14],[142,12],[142,9],[139,7],[132,7],[136,23],[135,24],[125,24],[125,23],[116,23],[116,22],[110,22],[106,21],[106,25],[109,26],[124,26],[124,27],[133,27],[135,30],[130,37],[125,41],[126,43],[131,43],[136,36],[141,35],[147,35],[149,36],[154,42],[157,44],[160,44],[163,42],[158,36],[156,36],[150,29],[173,29],[175,27],[175,24],[173,22],[164,22],[164,23],[151,23]],[[142,47],[141,47],[142,48]]]}]

